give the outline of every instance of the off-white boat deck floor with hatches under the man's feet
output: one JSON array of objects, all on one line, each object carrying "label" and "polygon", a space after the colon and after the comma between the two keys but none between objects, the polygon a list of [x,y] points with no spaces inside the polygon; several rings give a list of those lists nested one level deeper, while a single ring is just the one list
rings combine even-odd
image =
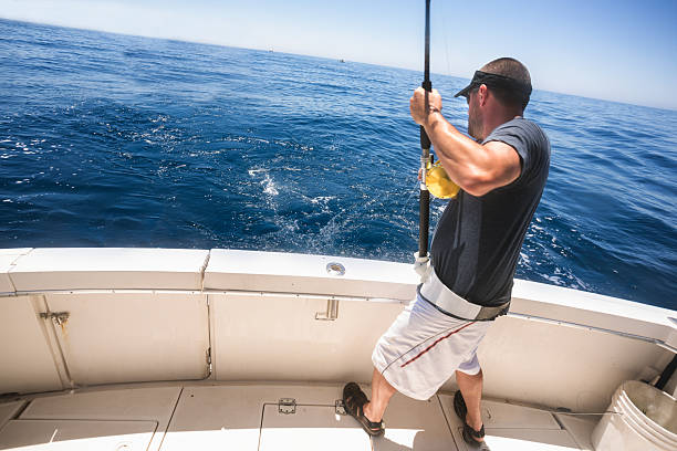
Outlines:
[{"label": "off-white boat deck floor with hatches under the man's feet", "polygon": [[[395,395],[384,419],[385,436],[371,439],[336,406],[341,390],[340,385],[198,382],[39,396],[0,403],[0,449],[470,449],[461,439],[452,394],[428,401]],[[590,437],[598,420],[492,400],[483,401],[482,416],[493,451],[592,450]]]}]

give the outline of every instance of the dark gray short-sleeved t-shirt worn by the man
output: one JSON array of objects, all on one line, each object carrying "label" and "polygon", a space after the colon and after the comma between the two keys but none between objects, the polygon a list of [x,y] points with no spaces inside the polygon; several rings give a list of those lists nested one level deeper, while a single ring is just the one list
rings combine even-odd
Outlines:
[{"label": "dark gray short-sleeved t-shirt worn by the man", "polygon": [[493,140],[517,150],[520,176],[482,197],[460,190],[439,219],[430,247],[439,280],[465,300],[485,306],[510,301],[520,249],[550,166],[550,141],[530,120],[507,122],[482,144]]}]

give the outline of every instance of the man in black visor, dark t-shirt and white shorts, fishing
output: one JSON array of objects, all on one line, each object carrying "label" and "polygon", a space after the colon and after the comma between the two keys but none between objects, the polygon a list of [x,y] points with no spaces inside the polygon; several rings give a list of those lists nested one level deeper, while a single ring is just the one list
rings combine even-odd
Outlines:
[{"label": "man in black visor, dark t-shirt and white shorts, fishing", "polygon": [[[550,143],[522,117],[531,77],[502,57],[475,73],[456,94],[468,102],[468,134],[441,114],[437,91],[414,92],[412,117],[425,127],[449,178],[460,188],[442,213],[430,247],[431,271],[418,295],[381,337],[372,360],[372,400],[354,384],[346,410],[372,436],[399,391],[428,399],[452,374],[464,440],[488,450],[480,417],[482,371],[477,348],[497,316],[507,313],[520,249],[548,178]],[[427,97],[427,98],[426,98]]]}]

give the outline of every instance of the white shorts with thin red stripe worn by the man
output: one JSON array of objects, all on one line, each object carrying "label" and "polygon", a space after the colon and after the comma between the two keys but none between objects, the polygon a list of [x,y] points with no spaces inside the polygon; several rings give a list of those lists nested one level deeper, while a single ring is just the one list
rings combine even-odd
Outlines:
[{"label": "white shorts with thin red stripe worn by the man", "polygon": [[477,348],[491,323],[457,319],[417,296],[378,339],[372,361],[397,391],[425,400],[457,369],[479,373]]}]

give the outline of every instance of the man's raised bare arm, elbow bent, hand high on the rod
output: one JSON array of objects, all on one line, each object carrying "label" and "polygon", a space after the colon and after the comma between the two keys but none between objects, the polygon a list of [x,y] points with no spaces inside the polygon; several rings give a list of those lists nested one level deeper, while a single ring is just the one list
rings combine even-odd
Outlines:
[{"label": "man's raised bare arm, elbow bent, hand high on the rod", "polygon": [[428,111],[425,95],[420,87],[414,92],[409,102],[412,117],[425,127],[449,178],[464,191],[483,196],[520,176],[520,157],[514,148],[501,141],[481,145],[468,138],[441,115],[441,97],[437,91],[427,93]]}]

